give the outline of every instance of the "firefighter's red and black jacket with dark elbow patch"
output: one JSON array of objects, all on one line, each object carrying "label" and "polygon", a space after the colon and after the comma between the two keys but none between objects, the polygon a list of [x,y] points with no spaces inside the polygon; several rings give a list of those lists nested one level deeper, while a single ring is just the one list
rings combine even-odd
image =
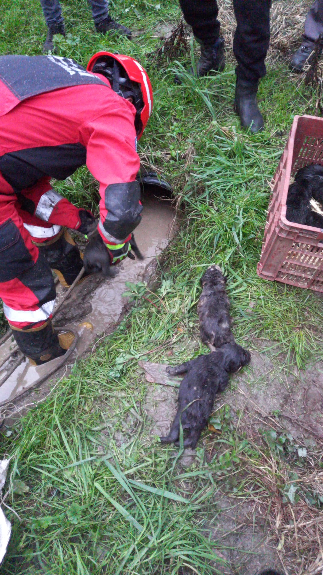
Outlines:
[{"label": "firefighter's red and black jacket with dark elbow patch", "polygon": [[86,164],[100,185],[101,236],[128,239],[143,209],[135,113],[103,76],[70,58],[1,56],[0,223],[14,196]]}]

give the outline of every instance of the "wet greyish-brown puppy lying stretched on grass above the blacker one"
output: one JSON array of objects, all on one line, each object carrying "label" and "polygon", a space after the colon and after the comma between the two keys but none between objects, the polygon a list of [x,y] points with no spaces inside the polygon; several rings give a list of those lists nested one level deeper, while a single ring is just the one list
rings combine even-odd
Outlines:
[{"label": "wet greyish-brown puppy lying stretched on grass above the blacker one", "polygon": [[197,304],[199,334],[202,342],[214,351],[224,343],[234,343],[230,302],[225,290],[226,277],[214,264],[202,275],[201,283],[203,289]]}]

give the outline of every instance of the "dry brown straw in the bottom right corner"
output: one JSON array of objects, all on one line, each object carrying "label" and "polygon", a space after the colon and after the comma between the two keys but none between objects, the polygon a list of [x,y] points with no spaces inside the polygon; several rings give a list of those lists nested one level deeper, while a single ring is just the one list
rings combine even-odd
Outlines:
[{"label": "dry brown straw in the bottom right corner", "polygon": [[[270,427],[281,431],[271,418]],[[249,428],[249,441],[260,458],[252,462],[243,458],[248,468],[248,485],[259,485],[257,505],[262,516],[266,516],[272,534],[276,535],[276,550],[286,575],[316,575],[323,573],[323,513],[317,505],[311,505],[307,493],[315,494],[316,500],[323,500],[323,470],[320,460],[323,442],[317,441],[315,453],[311,454],[307,468],[291,467],[286,459],[275,454],[268,456],[263,436],[255,428]],[[291,480],[291,471],[297,471],[297,479]],[[284,502],[282,490],[286,486],[297,486],[299,496],[291,504]]]}]

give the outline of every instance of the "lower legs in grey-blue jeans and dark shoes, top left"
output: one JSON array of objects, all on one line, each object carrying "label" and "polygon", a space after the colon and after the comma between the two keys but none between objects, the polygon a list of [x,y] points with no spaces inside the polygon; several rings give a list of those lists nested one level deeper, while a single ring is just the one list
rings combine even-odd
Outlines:
[{"label": "lower legs in grey-blue jeans and dark shoes, top left", "polygon": [[[65,36],[64,18],[61,15],[61,7],[59,0],[40,0],[41,7],[43,8],[44,18],[48,27],[47,38],[43,46],[43,52],[53,51],[53,36],[55,34],[62,34]],[[109,2],[108,0],[89,0],[92,9],[92,16],[94,20],[95,30],[105,34],[113,30],[131,38],[131,30],[118,24],[109,16]]]}]

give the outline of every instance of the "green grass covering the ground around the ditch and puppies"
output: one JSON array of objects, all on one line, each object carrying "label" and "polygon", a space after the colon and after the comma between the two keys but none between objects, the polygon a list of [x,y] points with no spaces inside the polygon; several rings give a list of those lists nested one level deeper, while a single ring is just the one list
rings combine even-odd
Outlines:
[{"label": "green grass covering the ground around the ditch and puppies", "polygon": [[[159,298],[149,295],[156,307],[137,301],[117,331],[80,361],[46,401],[1,430],[2,455],[12,458],[6,504],[19,516],[6,511],[13,535],[0,568],[3,575],[208,575],[216,573],[216,565],[221,572],[216,558],[221,545],[208,540],[203,529],[206,518],[214,520],[213,492],[220,484],[241,497],[248,490],[265,493],[264,482],[257,478],[252,487],[243,475],[243,458],[249,457],[252,469],[259,451],[243,443],[224,414],[219,442],[227,442],[226,455],[221,452],[206,463],[208,444],[200,442],[193,466],[180,469],[176,452],[149,437],[143,411],[147,384],[137,367],[139,356],[148,352],[150,361],[168,362],[170,347],[174,363],[189,358],[187,336],[197,336],[195,304],[207,265],[221,264],[228,274],[240,343],[253,348],[257,338],[274,342],[284,352],[287,371],[322,358],[319,298],[256,275],[268,181],[294,114],[313,112],[312,93],[298,87],[283,60],[269,68],[259,90],[266,130],[249,136],[232,109],[232,66],[199,82],[184,74],[182,86],[175,86],[174,71],[189,64],[195,45],[180,62],[159,68],[151,64],[149,54],[159,42],[156,26],[180,16],[176,0],[157,6],[111,2],[114,16],[142,30],[130,42],[94,34],[85,0],[63,3],[72,36],[69,43],[59,43],[60,55],[86,66],[95,51],[109,49],[128,53],[147,67],[154,108],[139,152],[163,170],[183,214],[159,262]],[[3,0],[2,18],[0,53],[40,53],[45,26],[38,2]],[[78,205],[97,205],[97,185],[84,168],[56,187]],[[201,349],[196,343],[194,353]],[[114,439],[116,431],[124,438],[121,443]],[[274,453],[271,445],[266,450]],[[225,480],[233,466],[241,470],[235,485]],[[284,489],[283,474],[279,481]],[[193,570],[186,572],[186,566]]]}]

